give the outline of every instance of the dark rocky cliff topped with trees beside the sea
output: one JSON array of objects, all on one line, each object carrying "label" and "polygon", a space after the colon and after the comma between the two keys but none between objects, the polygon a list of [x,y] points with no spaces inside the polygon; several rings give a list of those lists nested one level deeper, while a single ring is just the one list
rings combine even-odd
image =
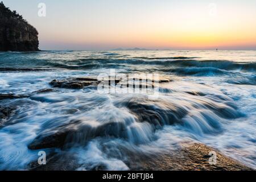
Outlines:
[{"label": "dark rocky cliff topped with trees beside the sea", "polygon": [[38,31],[0,3],[0,51],[39,51]]}]

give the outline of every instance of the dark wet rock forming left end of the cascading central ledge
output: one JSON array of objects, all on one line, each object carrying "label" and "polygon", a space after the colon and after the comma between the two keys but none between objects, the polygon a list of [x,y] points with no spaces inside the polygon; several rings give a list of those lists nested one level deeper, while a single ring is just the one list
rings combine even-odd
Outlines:
[{"label": "dark wet rock forming left end of the cascading central ledge", "polygon": [[84,146],[90,139],[96,137],[127,138],[126,126],[120,122],[108,122],[97,127],[73,121],[68,125],[53,129],[55,132],[42,132],[29,145],[31,150],[42,148],[69,148]]}]

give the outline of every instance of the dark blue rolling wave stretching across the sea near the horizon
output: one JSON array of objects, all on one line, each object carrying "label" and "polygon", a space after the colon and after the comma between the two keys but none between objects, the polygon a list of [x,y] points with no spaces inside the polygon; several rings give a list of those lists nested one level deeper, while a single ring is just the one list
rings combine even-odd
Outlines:
[{"label": "dark blue rolling wave stretching across the sea near the horizon", "polygon": [[[48,53],[47,53],[48,54]],[[112,55],[117,55],[117,53],[105,53],[105,55],[110,55],[109,58],[106,57],[85,57],[80,59],[63,59],[63,58],[51,58],[42,59],[39,56],[38,59],[35,57],[24,58],[15,55],[14,57],[5,57],[5,59],[0,60],[1,68],[0,71],[33,71],[32,69],[44,69],[44,68],[64,68],[64,69],[99,69],[99,68],[118,68],[118,67],[133,67],[133,65],[149,65],[152,68],[158,68],[159,71],[165,71],[167,69],[177,68],[178,73],[185,72],[206,72],[207,69],[210,73],[216,72],[217,74],[222,74],[221,71],[246,71],[255,72],[256,63],[255,62],[235,62],[229,60],[195,60],[197,57],[133,57],[133,58],[111,58]],[[17,68],[17,65],[19,67]],[[154,66],[154,67],[153,67]],[[32,68],[32,69],[30,69]],[[141,67],[138,67],[141,69]],[[142,67],[143,68],[143,67]],[[150,68],[150,67],[148,67]],[[184,71],[181,68],[187,68]],[[193,69],[192,69],[193,68]],[[198,68],[198,69],[197,69]],[[202,69],[200,69],[202,68]],[[204,68],[204,69],[203,69]],[[197,69],[197,71],[196,71]],[[173,72],[173,71],[171,71]],[[195,73],[197,74],[197,73]],[[193,74],[192,74],[193,75]]]}]

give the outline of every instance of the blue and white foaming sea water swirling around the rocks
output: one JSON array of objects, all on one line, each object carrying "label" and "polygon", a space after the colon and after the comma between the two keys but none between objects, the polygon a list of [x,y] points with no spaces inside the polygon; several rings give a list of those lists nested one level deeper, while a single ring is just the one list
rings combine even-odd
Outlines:
[{"label": "blue and white foaming sea water swirling around the rocks", "polygon": [[[52,88],[54,79],[158,73],[158,97]],[[63,169],[127,170],[134,156],[201,142],[256,168],[256,51],[46,51],[0,53],[0,169],[27,170],[38,152]],[[64,145],[30,150],[68,131]]]}]

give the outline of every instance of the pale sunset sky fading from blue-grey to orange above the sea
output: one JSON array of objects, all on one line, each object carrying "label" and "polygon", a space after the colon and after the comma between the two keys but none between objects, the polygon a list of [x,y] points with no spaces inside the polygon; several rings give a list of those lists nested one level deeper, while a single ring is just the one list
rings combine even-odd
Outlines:
[{"label": "pale sunset sky fading from blue-grey to orange above the sea", "polygon": [[37,28],[45,50],[256,49],[255,0],[2,1]]}]

